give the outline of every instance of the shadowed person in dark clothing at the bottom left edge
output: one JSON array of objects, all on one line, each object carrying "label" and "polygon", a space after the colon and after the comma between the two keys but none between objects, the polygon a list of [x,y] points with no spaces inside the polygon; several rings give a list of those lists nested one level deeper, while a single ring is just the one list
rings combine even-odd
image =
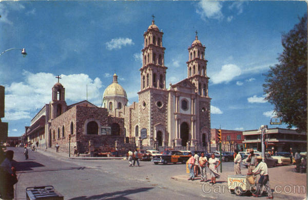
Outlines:
[{"label": "shadowed person in dark clothing at the bottom left edge", "polygon": [[14,152],[6,152],[6,158],[0,165],[0,194],[2,199],[14,198],[14,184],[17,183],[15,168],[12,167]]}]

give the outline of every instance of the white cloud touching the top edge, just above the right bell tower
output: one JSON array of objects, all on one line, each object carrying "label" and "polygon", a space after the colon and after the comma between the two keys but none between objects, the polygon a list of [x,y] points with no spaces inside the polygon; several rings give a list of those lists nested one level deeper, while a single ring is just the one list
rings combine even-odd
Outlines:
[{"label": "white cloud touching the top edge, just above the right bell tower", "polygon": [[223,14],[221,12],[222,2],[219,1],[200,1],[196,12],[201,15],[203,20],[206,19],[216,19],[222,20]]}]

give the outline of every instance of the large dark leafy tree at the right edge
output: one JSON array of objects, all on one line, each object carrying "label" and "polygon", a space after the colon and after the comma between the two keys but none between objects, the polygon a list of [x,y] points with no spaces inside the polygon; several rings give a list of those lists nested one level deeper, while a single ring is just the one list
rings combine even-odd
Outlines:
[{"label": "large dark leafy tree at the right edge", "polygon": [[264,75],[263,92],[287,127],[301,132],[307,128],[307,13],[299,21],[282,34],[284,49]]}]

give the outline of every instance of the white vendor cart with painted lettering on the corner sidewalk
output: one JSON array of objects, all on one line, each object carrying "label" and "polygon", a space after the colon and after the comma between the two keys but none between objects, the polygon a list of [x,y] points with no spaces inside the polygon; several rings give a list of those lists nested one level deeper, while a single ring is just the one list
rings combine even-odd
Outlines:
[{"label": "white vendor cart with painted lettering on the corner sidewalk", "polygon": [[256,191],[256,176],[253,175],[229,175],[228,189],[236,195],[241,196],[247,192],[254,193]]}]

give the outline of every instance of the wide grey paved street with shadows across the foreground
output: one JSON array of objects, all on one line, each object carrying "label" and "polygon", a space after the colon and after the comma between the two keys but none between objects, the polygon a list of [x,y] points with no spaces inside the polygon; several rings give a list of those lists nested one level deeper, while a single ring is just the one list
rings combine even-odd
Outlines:
[{"label": "wide grey paved street with shadows across the foreground", "polygon": [[[132,168],[126,160],[72,160],[45,152],[30,152],[25,160],[23,148],[8,149],[15,152],[19,180],[15,199],[25,199],[27,187],[46,185],[54,186],[65,199],[239,199],[228,192],[206,194],[200,186],[171,179],[185,174],[181,164],[142,161],[141,167]],[[223,169],[233,170],[233,163],[224,162]]]}]

